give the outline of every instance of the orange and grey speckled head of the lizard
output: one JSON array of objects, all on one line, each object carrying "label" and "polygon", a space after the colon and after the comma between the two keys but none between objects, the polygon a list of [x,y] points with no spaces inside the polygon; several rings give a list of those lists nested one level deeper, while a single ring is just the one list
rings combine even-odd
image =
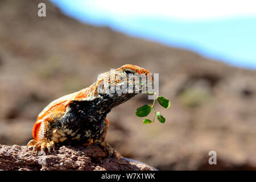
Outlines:
[{"label": "orange and grey speckled head of the lizard", "polygon": [[101,97],[111,108],[129,100],[138,93],[147,91],[148,83],[154,81],[147,69],[126,64],[118,69],[102,73],[93,86],[94,96]]}]

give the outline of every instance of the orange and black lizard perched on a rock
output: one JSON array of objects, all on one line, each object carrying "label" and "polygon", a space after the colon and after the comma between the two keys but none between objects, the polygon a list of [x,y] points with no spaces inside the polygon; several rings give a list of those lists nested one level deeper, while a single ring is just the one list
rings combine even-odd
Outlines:
[{"label": "orange and black lizard perched on a rock", "polygon": [[[126,64],[114,72],[101,73],[88,88],[52,101],[38,115],[32,129],[34,139],[28,142],[27,147],[32,148],[32,153],[39,151],[46,155],[46,150],[48,153],[51,148],[55,150],[55,144],[94,144],[104,148],[109,158],[116,158],[114,148],[105,142],[109,126],[106,115],[113,107],[141,92],[141,87],[136,93],[112,93],[106,92],[105,88],[110,88],[111,84],[125,88],[134,84],[134,79],[129,80],[127,76],[143,74],[152,76],[147,69]],[[103,92],[98,92],[100,88]],[[132,89],[135,90],[134,86]]]}]

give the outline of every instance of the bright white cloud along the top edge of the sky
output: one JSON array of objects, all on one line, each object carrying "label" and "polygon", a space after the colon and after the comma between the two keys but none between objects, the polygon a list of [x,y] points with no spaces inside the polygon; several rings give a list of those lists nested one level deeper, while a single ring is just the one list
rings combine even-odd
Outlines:
[{"label": "bright white cloud along the top edge of the sky", "polygon": [[[73,1],[75,2],[75,1]],[[78,6],[122,16],[165,16],[176,19],[212,19],[256,15],[256,0],[79,0]]]}]

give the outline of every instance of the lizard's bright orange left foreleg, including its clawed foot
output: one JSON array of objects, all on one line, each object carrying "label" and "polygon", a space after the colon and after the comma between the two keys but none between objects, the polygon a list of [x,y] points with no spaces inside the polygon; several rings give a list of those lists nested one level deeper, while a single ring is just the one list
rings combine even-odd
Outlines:
[{"label": "lizard's bright orange left foreleg, including its clawed foot", "polygon": [[39,126],[36,126],[35,137],[27,144],[28,148],[33,148],[32,152],[36,151],[39,147],[41,148],[41,155],[46,155],[46,148],[48,152],[51,152],[51,148],[55,150],[55,144],[51,141],[52,127],[56,125],[57,122],[61,121],[63,115],[63,112],[57,112],[49,114],[38,121]]}]

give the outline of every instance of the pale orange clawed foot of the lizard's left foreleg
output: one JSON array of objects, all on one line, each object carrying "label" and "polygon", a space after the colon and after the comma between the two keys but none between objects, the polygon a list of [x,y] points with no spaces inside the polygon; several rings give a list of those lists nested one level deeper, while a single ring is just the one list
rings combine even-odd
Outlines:
[{"label": "pale orange clawed foot of the lizard's left foreleg", "polygon": [[36,142],[34,139],[30,140],[27,144],[28,148],[33,148],[32,152],[34,153],[39,147],[41,148],[40,155],[46,155],[46,152],[44,151],[46,148],[48,149],[48,152],[51,152],[51,148],[55,150],[55,145],[53,141],[49,140],[40,140]]}]

